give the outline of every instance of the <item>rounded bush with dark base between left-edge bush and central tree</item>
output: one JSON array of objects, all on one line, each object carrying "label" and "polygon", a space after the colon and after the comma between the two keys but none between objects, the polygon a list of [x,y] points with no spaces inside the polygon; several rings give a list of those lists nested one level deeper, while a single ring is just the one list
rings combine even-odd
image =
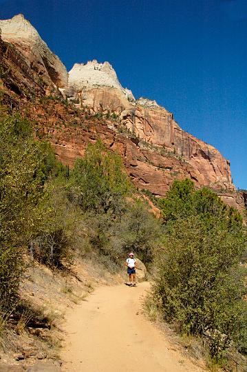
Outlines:
[{"label": "rounded bush with dark base between left-edge bush and central tree", "polygon": [[72,246],[77,220],[76,208],[67,200],[63,187],[54,185],[36,209],[36,223],[29,242],[32,258],[52,269],[69,267],[74,256]]}]

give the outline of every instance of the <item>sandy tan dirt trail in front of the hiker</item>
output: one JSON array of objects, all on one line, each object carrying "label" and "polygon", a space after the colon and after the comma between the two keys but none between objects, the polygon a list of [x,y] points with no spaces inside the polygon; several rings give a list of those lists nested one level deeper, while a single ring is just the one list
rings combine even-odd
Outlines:
[{"label": "sandy tan dirt trail in front of the hiker", "polygon": [[99,287],[67,316],[63,371],[202,371],[141,313],[147,282]]}]

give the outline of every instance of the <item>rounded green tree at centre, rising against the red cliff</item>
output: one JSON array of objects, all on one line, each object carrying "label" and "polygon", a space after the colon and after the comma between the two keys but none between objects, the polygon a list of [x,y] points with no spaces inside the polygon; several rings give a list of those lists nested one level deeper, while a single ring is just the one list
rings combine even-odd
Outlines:
[{"label": "rounded green tree at centre, rising against the red cliff", "polygon": [[72,173],[71,198],[83,210],[118,213],[121,200],[131,191],[122,160],[103,143],[88,145],[83,158],[77,159]]}]

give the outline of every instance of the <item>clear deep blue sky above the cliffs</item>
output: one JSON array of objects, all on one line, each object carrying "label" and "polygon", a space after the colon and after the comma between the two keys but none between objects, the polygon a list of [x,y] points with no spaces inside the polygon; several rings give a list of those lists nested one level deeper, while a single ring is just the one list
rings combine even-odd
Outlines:
[{"label": "clear deep blue sky above the cliffs", "polygon": [[230,160],[247,189],[247,0],[0,0],[23,13],[69,70],[109,61],[134,96]]}]

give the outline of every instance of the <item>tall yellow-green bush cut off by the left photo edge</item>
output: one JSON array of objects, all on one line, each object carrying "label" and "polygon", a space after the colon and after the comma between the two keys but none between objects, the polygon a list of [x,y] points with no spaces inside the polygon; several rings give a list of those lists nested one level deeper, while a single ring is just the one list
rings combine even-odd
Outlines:
[{"label": "tall yellow-green bush cut off by the left photo edge", "polygon": [[0,124],[0,298],[11,302],[47,174],[45,154],[32,138],[28,121],[16,114],[2,116]]}]

